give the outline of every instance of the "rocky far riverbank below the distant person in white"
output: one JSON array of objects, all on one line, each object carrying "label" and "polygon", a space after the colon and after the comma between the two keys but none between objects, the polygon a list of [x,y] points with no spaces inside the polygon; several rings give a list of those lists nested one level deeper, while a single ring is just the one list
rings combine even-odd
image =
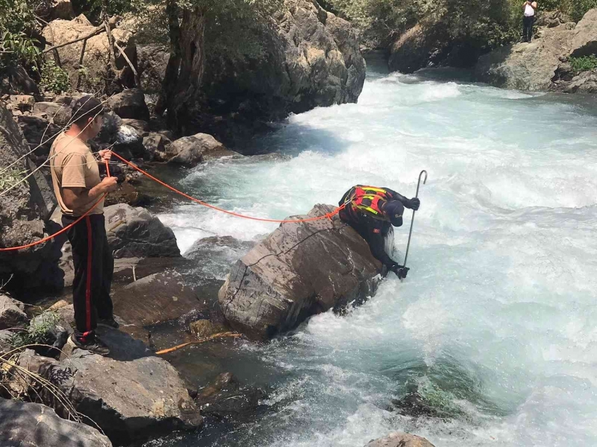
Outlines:
[{"label": "rocky far riverbank below the distant person in white", "polygon": [[597,9],[578,23],[558,12],[540,12],[534,39],[483,54],[479,48],[442,39],[433,27],[417,24],[400,34],[389,50],[391,71],[426,67],[472,68],[474,79],[524,91],[597,93],[597,67],[583,69],[575,58],[597,56]]}]

